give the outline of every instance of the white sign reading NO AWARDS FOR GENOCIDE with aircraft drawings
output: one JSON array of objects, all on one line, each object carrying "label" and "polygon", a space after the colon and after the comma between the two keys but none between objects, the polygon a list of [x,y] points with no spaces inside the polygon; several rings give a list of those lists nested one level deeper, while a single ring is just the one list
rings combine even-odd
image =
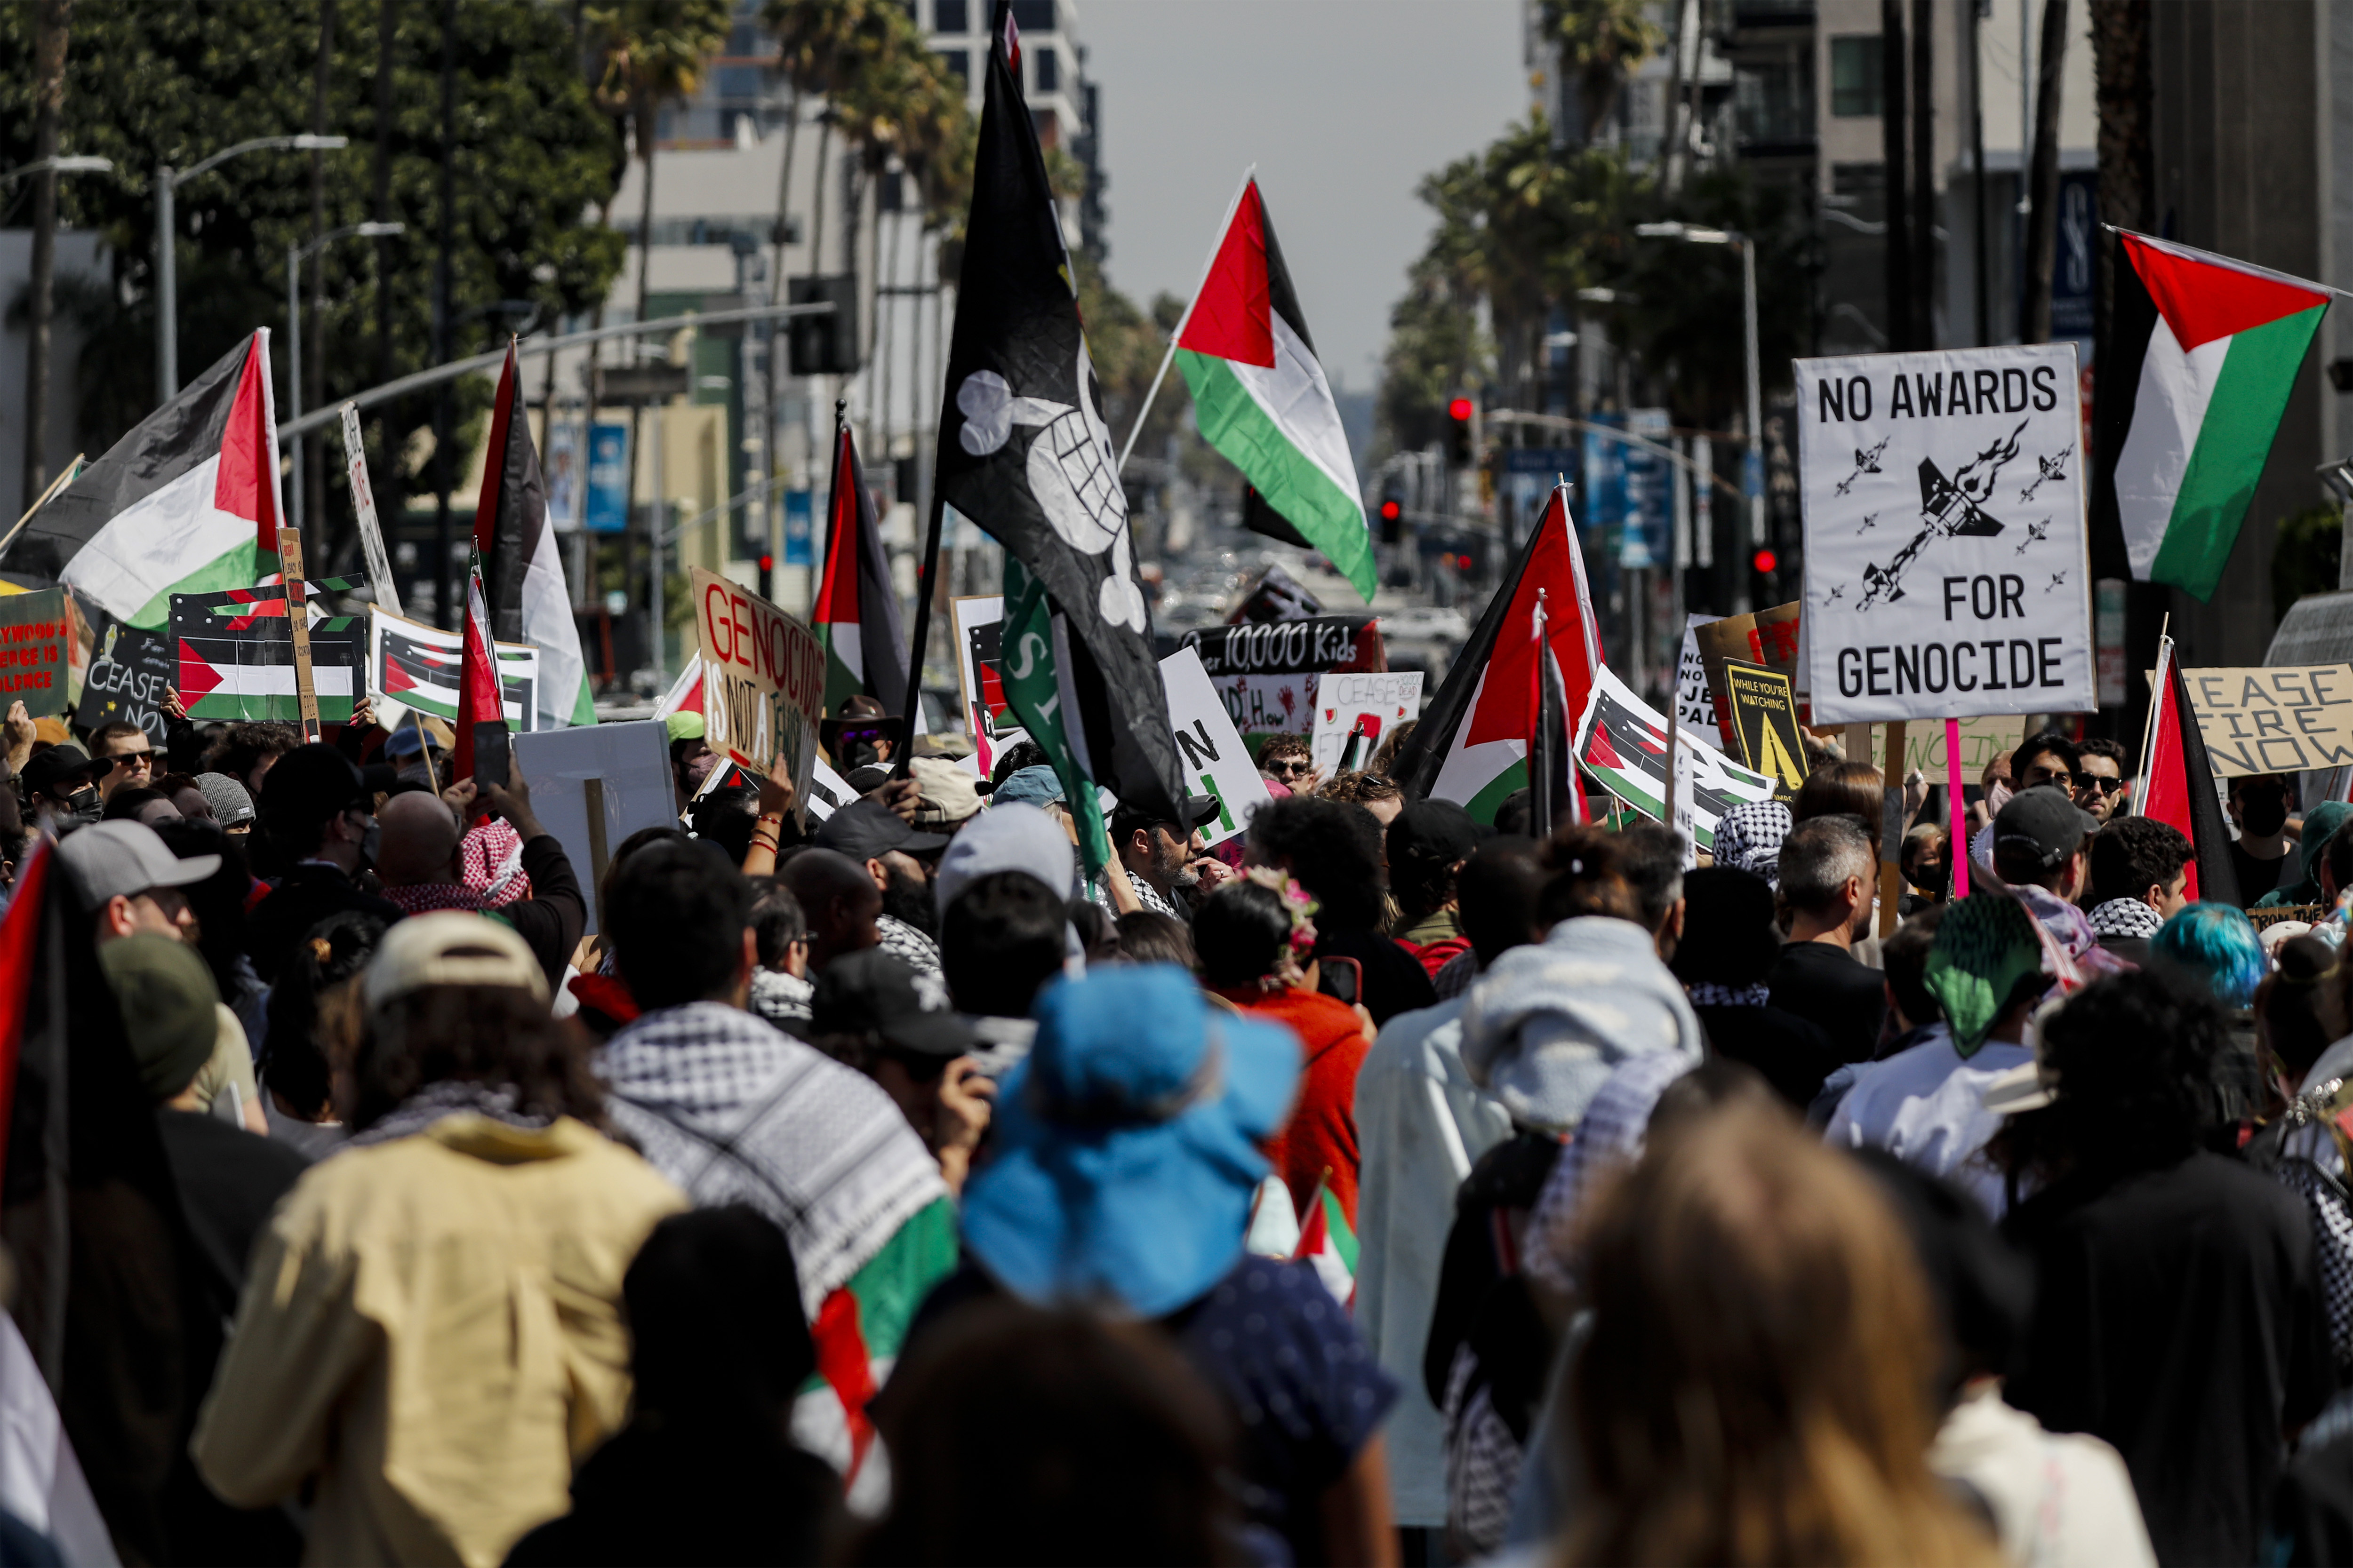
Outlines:
[{"label": "white sign reading NO AWARDS FOR GENOCIDE with aircraft drawings", "polygon": [[2073,343],[1795,369],[1814,722],[2097,708]]}]

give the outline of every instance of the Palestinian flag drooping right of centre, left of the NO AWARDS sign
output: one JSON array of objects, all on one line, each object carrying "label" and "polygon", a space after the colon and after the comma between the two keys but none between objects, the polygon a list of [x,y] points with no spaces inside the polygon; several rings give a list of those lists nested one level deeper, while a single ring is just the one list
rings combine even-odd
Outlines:
[{"label": "Palestinian flag drooping right of centre, left of the NO AWARDS sign", "polygon": [[1565,484],[1553,489],[1511,578],[1487,602],[1478,630],[1447,670],[1447,684],[1400,748],[1395,776],[1407,799],[1461,802],[1473,820],[1492,823],[1504,797],[1527,788],[1527,755],[1539,722],[1539,590],[1544,649],[1560,663],[1567,710],[1584,712],[1602,651]]}]

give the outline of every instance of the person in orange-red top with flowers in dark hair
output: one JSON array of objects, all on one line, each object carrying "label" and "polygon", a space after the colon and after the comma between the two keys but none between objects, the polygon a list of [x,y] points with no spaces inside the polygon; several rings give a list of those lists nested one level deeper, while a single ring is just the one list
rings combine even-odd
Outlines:
[{"label": "person in orange-red top with flowers in dark hair", "polygon": [[[1355,1070],[1372,1044],[1372,1016],[1320,987],[1315,903],[1282,872],[1257,867],[1209,893],[1193,917],[1193,952],[1209,994],[1299,1037],[1306,1072],[1289,1121],[1266,1143],[1292,1204],[1306,1213],[1322,1182],[1355,1227]],[[1341,959],[1334,983],[1360,980]]]}]

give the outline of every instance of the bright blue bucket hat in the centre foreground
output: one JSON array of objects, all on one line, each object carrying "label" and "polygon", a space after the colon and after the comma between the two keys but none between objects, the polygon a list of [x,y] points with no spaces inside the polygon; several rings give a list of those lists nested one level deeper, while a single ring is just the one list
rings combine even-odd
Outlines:
[{"label": "bright blue bucket hat in the centre foreground", "polygon": [[965,1190],[965,1246],[1026,1300],[1165,1316],[1240,1260],[1259,1143],[1297,1086],[1289,1030],[1212,1009],[1172,964],[1052,985]]}]

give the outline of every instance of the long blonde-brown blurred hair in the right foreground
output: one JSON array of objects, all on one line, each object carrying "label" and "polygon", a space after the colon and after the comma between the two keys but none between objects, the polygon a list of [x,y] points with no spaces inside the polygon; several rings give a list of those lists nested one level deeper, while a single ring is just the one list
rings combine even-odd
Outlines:
[{"label": "long blonde-brown blurred hair in the right foreground", "polygon": [[1588,1213],[1569,1563],[2000,1561],[1927,1469],[1939,1328],[1859,1168],[1729,1105]]}]

